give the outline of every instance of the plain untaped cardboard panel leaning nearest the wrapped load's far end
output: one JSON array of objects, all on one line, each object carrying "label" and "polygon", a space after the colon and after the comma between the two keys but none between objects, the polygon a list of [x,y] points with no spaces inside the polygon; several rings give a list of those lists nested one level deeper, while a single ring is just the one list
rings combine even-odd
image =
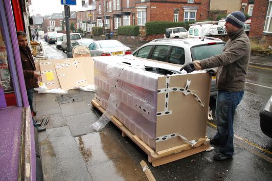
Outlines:
[{"label": "plain untaped cardboard panel leaning nearest the wrapped load's far end", "polygon": [[69,62],[76,60],[83,67],[88,84],[94,84],[94,60],[93,57],[69,58]]}]

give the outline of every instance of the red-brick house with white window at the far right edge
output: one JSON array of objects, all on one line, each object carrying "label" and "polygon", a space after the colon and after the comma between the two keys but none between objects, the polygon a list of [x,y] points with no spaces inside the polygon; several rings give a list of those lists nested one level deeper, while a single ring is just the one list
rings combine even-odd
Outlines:
[{"label": "red-brick house with white window at the far right edge", "polygon": [[[251,21],[250,37],[272,40],[272,0],[256,0]],[[268,11],[270,10],[270,11]]]}]

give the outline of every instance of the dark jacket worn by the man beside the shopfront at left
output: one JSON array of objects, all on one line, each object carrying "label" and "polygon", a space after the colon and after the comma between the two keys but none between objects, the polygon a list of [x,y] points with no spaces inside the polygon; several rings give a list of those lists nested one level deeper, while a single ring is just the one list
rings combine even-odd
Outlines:
[{"label": "dark jacket worn by the man beside the shopfront at left", "polygon": [[21,55],[21,64],[22,70],[24,72],[26,88],[36,88],[39,87],[37,83],[37,79],[34,78],[34,71],[36,71],[35,63],[32,57],[32,53],[29,47],[26,49],[19,47],[20,55]]}]

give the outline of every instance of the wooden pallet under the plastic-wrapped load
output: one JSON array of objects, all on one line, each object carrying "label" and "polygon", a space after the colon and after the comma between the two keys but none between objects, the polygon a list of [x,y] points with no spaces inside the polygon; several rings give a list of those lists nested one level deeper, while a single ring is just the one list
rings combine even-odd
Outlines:
[{"label": "wooden pallet under the plastic-wrapped load", "polygon": [[[105,112],[105,109],[99,105],[95,100],[92,100],[91,103],[102,113]],[[145,144],[137,135],[133,134],[129,129],[127,129],[123,123],[121,123],[117,118],[112,116],[110,121],[114,123],[121,131],[122,137],[129,137],[135,144],[137,144],[147,155],[148,162],[152,163],[152,166],[160,166],[167,164],[184,157],[191,156],[193,154],[207,150],[210,147],[210,140],[206,137],[205,139],[201,138],[194,146],[189,144],[178,145],[169,149],[155,152],[147,144]]]}]

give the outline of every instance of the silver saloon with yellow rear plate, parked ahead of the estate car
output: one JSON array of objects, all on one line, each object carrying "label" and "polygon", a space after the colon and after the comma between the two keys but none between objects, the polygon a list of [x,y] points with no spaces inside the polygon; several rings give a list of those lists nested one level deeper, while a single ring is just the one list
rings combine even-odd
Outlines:
[{"label": "silver saloon with yellow rear plate, parked ahead of the estate car", "polygon": [[131,50],[117,40],[99,40],[89,45],[90,56],[130,55]]}]

